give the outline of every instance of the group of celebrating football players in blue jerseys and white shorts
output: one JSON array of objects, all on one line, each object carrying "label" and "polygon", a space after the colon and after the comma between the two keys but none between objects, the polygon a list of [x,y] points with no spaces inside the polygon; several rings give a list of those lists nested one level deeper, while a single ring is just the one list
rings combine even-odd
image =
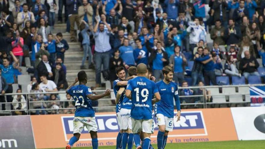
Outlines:
[{"label": "group of celebrating football players in blue jerseys and white shorts", "polygon": [[[171,67],[166,66],[162,72],[164,79],[155,83],[155,78],[151,76],[150,70],[143,63],[137,65],[137,68],[130,67],[127,78],[123,67],[116,68],[118,79],[114,81],[113,89],[116,96],[116,115],[120,128],[116,149],[126,149],[127,144],[128,149],[132,149],[133,143],[136,145],[136,149],[153,149],[150,139],[155,127],[153,104],[155,104],[154,115],[159,128],[157,148],[165,148],[168,132],[173,131],[174,99],[177,121],[180,119],[181,111],[178,87],[176,83],[172,82],[174,71]],[[98,126],[91,100],[109,96],[110,90],[107,89],[101,95],[93,95],[91,89],[86,86],[86,72],[80,71],[77,76],[75,82],[66,91],[76,101],[73,137],[70,138],[66,149],[70,149],[79,140],[85,126],[91,135],[93,149],[97,149]],[[74,86],[78,81],[79,85]]]}]

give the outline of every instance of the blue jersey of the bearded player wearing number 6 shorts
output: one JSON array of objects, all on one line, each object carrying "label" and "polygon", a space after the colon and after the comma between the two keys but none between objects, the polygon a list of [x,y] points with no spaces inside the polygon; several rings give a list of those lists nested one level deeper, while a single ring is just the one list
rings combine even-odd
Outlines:
[{"label": "blue jersey of the bearded player wearing number 6 shorts", "polygon": [[[178,96],[178,86],[174,82],[166,84],[163,80],[156,83],[161,100],[155,104],[154,113],[174,117],[174,96]],[[178,104],[178,103],[176,103]]]}]

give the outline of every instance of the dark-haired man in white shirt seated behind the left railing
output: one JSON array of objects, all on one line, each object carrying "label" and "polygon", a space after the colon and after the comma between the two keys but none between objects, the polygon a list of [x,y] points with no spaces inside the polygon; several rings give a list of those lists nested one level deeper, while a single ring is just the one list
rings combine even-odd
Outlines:
[{"label": "dark-haired man in white shirt seated behind the left railing", "polygon": [[[47,76],[40,76],[41,83],[39,84],[39,88],[43,92],[58,92],[57,85],[55,82],[48,80]],[[47,101],[50,98],[50,94],[45,94],[43,100]]]}]

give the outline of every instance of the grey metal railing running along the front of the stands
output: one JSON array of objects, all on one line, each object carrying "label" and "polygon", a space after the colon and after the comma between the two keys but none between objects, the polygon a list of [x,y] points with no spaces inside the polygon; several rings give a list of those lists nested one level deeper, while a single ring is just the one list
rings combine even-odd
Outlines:
[{"label": "grey metal railing running along the front of the stands", "polygon": [[[178,89],[186,89],[186,88],[189,88],[189,89],[199,89],[199,88],[202,88],[204,90],[204,92],[206,92],[206,90],[210,89],[210,88],[231,88],[231,87],[251,87],[251,86],[265,86],[265,84],[247,84],[247,85],[212,85],[212,86],[191,86],[191,87],[179,87]],[[95,91],[92,91],[92,92],[105,92],[105,90],[95,90]],[[111,89],[111,92],[113,92],[113,89]],[[38,92],[37,94],[66,94],[65,91],[59,91],[59,92]],[[31,103],[37,103],[37,102],[42,102],[42,103],[48,103],[48,102],[71,102],[71,101],[74,101],[74,100],[56,100],[56,101],[29,101],[29,95],[31,94],[36,94],[36,93],[8,93],[8,94],[5,94],[5,95],[24,95],[25,96],[25,99],[27,102],[0,102],[0,105],[1,104],[14,104],[14,103],[27,103],[27,109],[23,109],[23,110],[0,110],[0,113],[1,112],[12,112],[12,111],[25,111],[27,114],[30,114],[31,111],[35,111],[35,110],[71,110],[71,109],[76,109],[76,108],[66,108],[66,107],[63,107],[63,108],[59,108],[59,109],[55,109],[55,108],[44,108],[44,109],[32,109],[30,108],[29,104]],[[210,94],[210,96],[230,96],[230,95],[250,95],[249,92],[246,92],[246,93],[229,93],[229,94],[226,94],[226,93],[217,93],[217,94]],[[0,96],[3,96],[0,94]],[[209,95],[207,95],[209,96]],[[225,101],[225,102],[207,102],[206,99],[205,99],[205,95],[189,95],[189,96],[179,96],[179,98],[189,98],[189,97],[192,97],[192,98],[195,98],[195,97],[202,97],[203,98],[203,102],[201,103],[185,103],[185,104],[181,104],[182,106],[188,106],[188,105],[202,105],[203,108],[207,108],[207,105],[210,105],[210,104],[249,104],[250,103],[250,99],[249,100],[241,100],[241,101]],[[248,96],[246,96],[248,97]],[[243,98],[243,97],[242,97]],[[99,99],[100,101],[110,101],[110,100],[115,100],[115,99],[112,99],[112,98],[102,98],[102,99]],[[116,106],[98,106],[98,107],[93,107],[95,109],[114,109],[116,108]]]}]

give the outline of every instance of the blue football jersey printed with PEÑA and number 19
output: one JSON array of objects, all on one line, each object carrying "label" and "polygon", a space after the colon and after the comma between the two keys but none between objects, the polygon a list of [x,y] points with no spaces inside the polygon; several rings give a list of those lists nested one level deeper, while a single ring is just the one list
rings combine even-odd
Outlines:
[{"label": "blue football jersey printed with PE\u00d1A and number 19", "polygon": [[127,89],[132,92],[131,117],[136,120],[152,119],[152,95],[158,92],[155,83],[138,76],[129,80]]}]

